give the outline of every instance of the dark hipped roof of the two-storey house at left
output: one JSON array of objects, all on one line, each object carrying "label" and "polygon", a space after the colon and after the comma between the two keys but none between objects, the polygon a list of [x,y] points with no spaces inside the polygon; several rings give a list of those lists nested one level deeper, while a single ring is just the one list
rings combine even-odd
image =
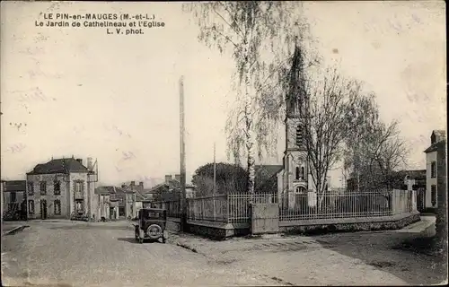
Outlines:
[{"label": "dark hipped roof of the two-storey house at left", "polygon": [[28,172],[28,175],[32,174],[53,174],[53,173],[69,173],[69,172],[86,172],[89,170],[75,158],[69,159],[56,159],[46,163],[40,163],[34,167],[33,170]]}]

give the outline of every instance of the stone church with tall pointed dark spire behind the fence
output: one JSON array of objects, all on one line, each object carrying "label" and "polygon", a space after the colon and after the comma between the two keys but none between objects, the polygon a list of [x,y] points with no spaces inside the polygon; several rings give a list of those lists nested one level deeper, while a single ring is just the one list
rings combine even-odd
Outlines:
[{"label": "stone church with tall pointed dark spire behind the fence", "polygon": [[[300,65],[302,63],[301,53],[295,48],[294,61],[292,63],[291,75],[298,79]],[[296,83],[297,81],[292,81]],[[295,207],[295,195],[307,195],[309,206],[316,204],[316,192],[313,191],[313,179],[310,174],[307,148],[304,143],[304,115],[308,113],[307,99],[298,85],[293,86],[290,93],[299,97],[286,97],[286,150],[282,165],[259,165],[256,166],[256,192],[263,192],[267,182],[272,182],[269,187],[277,190],[280,204],[287,204],[289,208]],[[270,180],[271,179],[271,180]],[[259,182],[257,182],[259,181]]]}]

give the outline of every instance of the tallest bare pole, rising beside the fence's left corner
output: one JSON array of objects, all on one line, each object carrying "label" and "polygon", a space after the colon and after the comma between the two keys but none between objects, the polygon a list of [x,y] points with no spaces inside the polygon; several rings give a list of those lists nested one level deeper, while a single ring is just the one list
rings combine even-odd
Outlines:
[{"label": "tallest bare pole, rising beside the fence's left corner", "polygon": [[184,126],[184,76],[180,76],[180,230],[185,231],[187,225],[186,202],[186,153]]}]

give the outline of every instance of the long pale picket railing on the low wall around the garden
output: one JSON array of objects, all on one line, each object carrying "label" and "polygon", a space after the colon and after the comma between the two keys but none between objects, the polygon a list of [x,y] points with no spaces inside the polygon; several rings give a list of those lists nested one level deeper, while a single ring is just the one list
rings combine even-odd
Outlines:
[{"label": "long pale picket railing on the low wall around the garden", "polygon": [[[357,217],[389,216],[409,213],[413,209],[412,194],[407,190],[313,193],[277,196],[275,194],[228,194],[187,198],[190,221],[250,222],[250,202],[278,204],[279,221],[302,221]],[[172,217],[180,217],[180,201],[154,203],[165,208]]]}]

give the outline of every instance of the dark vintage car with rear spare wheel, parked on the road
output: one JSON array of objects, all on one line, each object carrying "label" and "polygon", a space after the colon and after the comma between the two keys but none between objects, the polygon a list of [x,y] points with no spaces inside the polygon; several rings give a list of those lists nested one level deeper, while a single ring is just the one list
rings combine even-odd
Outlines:
[{"label": "dark vintage car with rear spare wheel, parked on the road", "polygon": [[162,239],[163,243],[168,238],[165,230],[167,223],[167,211],[160,208],[142,208],[138,212],[138,223],[135,226],[136,240],[143,243],[145,239],[157,241]]}]

